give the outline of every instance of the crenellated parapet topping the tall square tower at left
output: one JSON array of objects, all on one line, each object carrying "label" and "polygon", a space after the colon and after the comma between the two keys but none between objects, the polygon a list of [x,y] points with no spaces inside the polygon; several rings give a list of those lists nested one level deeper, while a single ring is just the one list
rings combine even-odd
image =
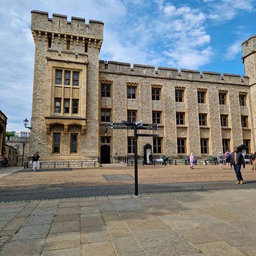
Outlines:
[{"label": "crenellated parapet topping the tall square tower at left", "polygon": [[84,18],[78,17],[71,17],[71,21],[68,21],[66,15],[55,13],[52,14],[52,18],[49,18],[48,12],[37,10],[32,10],[31,16],[32,31],[68,34],[103,40],[104,23],[102,21],[89,20],[89,24],[86,24]]}]

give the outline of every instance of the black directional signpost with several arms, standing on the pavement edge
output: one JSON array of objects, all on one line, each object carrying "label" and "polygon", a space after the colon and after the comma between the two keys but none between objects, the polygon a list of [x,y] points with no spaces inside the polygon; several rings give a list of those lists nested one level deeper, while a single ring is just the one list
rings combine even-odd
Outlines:
[{"label": "black directional signpost with several arms, standing on the pavement edge", "polygon": [[135,195],[138,195],[138,154],[137,154],[137,137],[158,137],[158,134],[137,134],[137,130],[159,130],[158,124],[142,124],[142,119],[132,123],[122,120],[121,123],[110,123],[111,129],[134,129],[134,179],[135,179]]}]

